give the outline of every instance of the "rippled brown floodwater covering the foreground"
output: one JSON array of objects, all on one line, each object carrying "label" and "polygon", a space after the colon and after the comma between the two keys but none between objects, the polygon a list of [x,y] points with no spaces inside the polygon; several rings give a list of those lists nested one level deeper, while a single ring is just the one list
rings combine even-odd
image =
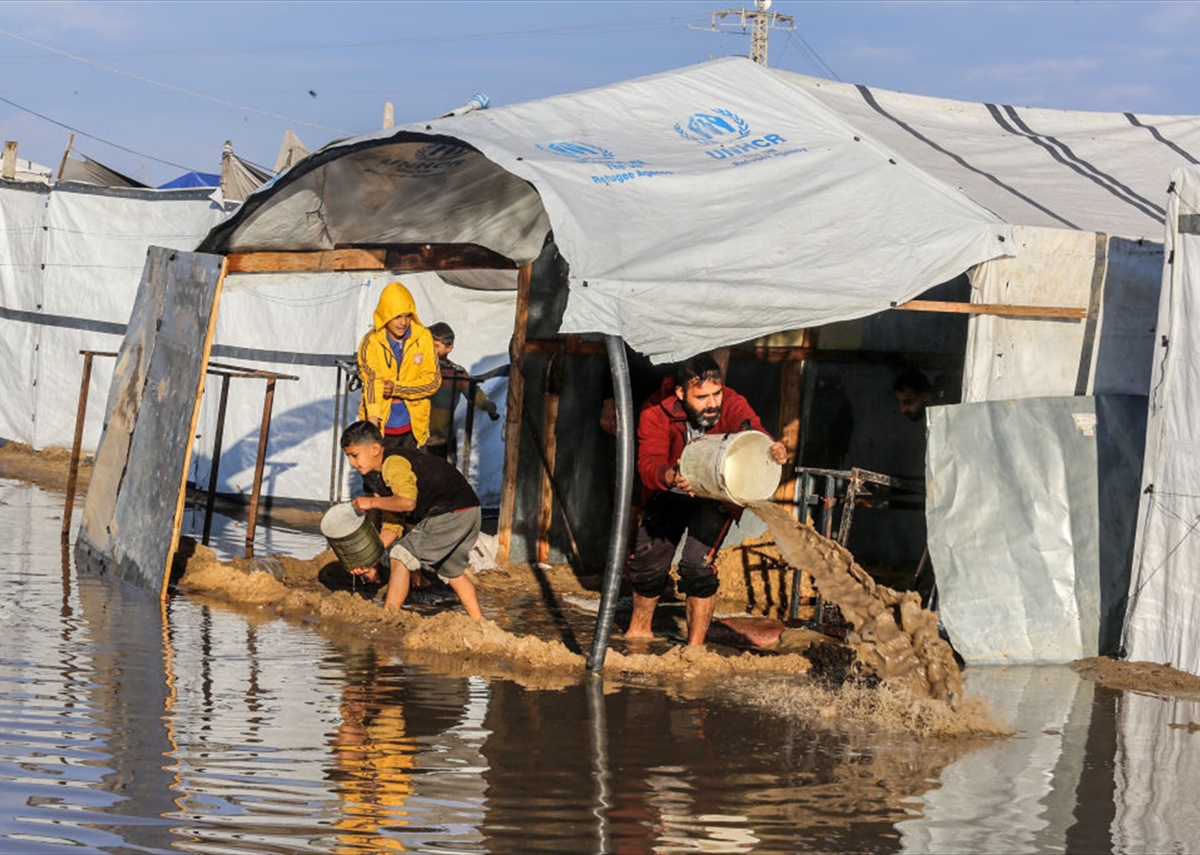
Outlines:
[{"label": "rippled brown floodwater covering the foreground", "polygon": [[77,573],[61,504],[0,480],[2,853],[1200,849],[1195,701],[971,669],[1014,735],[946,745],[721,687],[439,671]]}]

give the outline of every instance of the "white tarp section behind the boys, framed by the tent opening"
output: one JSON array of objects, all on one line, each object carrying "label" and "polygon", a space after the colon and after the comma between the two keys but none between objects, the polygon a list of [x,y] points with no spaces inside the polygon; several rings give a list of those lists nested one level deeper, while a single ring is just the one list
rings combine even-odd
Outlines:
[{"label": "white tarp section behind the boys, framed by the tent opening", "polygon": [[[334,448],[336,359],[354,360],[370,328],[379,293],[392,281],[413,293],[426,325],[444,321],[455,330],[451,359],[472,375],[508,363],[516,292],[454,286],[434,273],[238,274],[226,279],[211,359],[239,367],[299,377],[275,387],[263,495],[325,501],[336,464]],[[211,474],[222,378],[210,376],[197,425],[188,478],[206,489]],[[503,411],[508,381],[481,387]],[[263,419],[265,381],[232,378],[222,437],[217,491],[250,498]],[[350,400],[349,419],[358,412]],[[464,406],[458,412],[462,427]],[[475,414],[470,480],[485,507],[499,504],[503,421]],[[460,448],[462,438],[460,437]],[[341,449],[337,449],[341,454]],[[343,496],[350,470],[343,467]]]}]

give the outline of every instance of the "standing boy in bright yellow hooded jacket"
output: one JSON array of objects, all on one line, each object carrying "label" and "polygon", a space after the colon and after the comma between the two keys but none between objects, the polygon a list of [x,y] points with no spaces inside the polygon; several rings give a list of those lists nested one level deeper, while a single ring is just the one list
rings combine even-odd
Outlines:
[{"label": "standing boy in bright yellow hooded jacket", "polygon": [[433,337],[400,282],[379,295],[374,325],[359,342],[359,419],[378,427],[389,449],[424,446],[430,437],[430,397],[442,388],[442,372]]}]

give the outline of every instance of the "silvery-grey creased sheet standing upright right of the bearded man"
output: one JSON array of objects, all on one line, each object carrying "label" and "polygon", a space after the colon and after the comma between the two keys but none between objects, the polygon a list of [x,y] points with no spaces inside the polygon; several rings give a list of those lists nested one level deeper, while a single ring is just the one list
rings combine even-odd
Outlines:
[{"label": "silvery-grey creased sheet standing upright right of the bearded man", "polygon": [[1116,648],[1145,399],[932,407],[926,506],[942,623],[972,663]]}]

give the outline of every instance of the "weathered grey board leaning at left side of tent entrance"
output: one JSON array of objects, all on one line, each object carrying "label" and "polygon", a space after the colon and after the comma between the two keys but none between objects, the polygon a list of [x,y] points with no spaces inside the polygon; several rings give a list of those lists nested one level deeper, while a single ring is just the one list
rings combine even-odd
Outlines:
[{"label": "weathered grey board leaning at left side of tent entrance", "polygon": [[148,250],[76,544],[82,563],[160,598],[176,543],[222,267],[221,256]]}]

